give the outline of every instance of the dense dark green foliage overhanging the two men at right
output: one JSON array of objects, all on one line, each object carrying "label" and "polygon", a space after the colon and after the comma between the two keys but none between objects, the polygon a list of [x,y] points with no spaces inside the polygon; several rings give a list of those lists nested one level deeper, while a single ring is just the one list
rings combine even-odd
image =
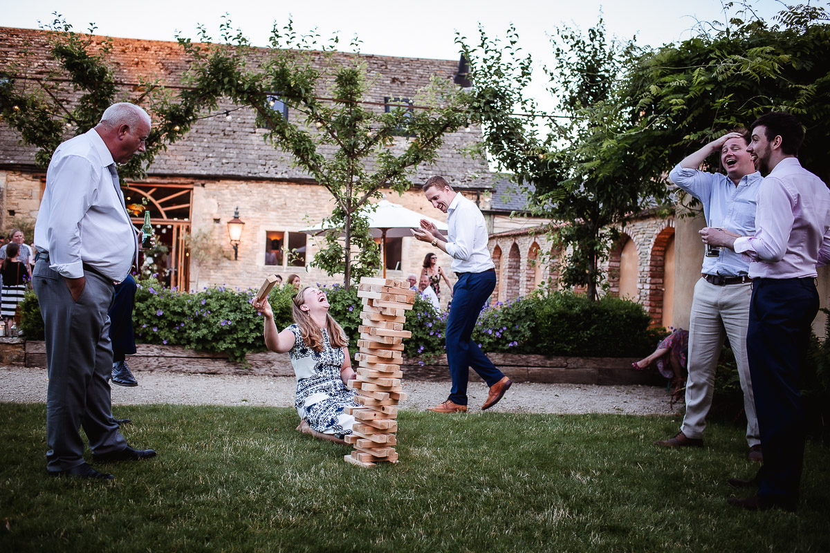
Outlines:
[{"label": "dense dark green foliage overhanging the two men at right", "polygon": [[648,169],[654,177],[726,130],[787,111],[807,129],[798,158],[830,183],[827,9],[785,7],[772,22],[750,4],[726,9],[726,22],[702,23],[691,39],[637,58],[624,87],[634,106],[627,142],[665,160]]}]

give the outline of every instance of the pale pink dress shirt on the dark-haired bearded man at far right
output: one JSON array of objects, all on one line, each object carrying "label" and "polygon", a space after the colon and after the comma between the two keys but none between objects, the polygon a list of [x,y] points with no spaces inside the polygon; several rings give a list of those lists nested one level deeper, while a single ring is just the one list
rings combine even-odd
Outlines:
[{"label": "pale pink dress shirt on the dark-haired bearded man at far right", "polygon": [[752,260],[750,277],[815,277],[830,260],[830,190],[797,158],[782,159],[761,185],[755,228],[734,246]]}]

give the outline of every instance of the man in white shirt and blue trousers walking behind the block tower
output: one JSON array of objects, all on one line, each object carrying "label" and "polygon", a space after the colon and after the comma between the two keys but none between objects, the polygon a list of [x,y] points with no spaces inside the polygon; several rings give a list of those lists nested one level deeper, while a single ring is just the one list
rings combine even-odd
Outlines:
[{"label": "man in white shirt and blue trousers walking behind the block tower", "polygon": [[493,365],[471,338],[481,308],[496,288],[496,265],[487,250],[484,216],[474,202],[455,192],[443,177],[427,180],[423,192],[433,207],[447,213],[448,238],[426,219],[421,220],[420,229],[413,229],[413,235],[452,256],[452,270],[458,278],[452,288],[452,308],[445,332],[452,389],[446,401],[430,410],[437,413],[467,410],[469,367],[490,386],[481,410],[490,409],[513,382]]}]

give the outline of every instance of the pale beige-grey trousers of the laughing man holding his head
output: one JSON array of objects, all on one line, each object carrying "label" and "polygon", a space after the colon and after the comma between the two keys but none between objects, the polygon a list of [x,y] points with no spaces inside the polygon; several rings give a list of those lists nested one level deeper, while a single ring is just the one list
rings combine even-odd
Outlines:
[{"label": "pale beige-grey trousers of the laughing man holding his head", "polygon": [[728,336],[738,365],[740,387],[744,391],[746,442],[750,447],[761,443],[746,357],[746,328],[749,325],[751,297],[752,284],[749,283],[716,286],[700,279],[695,284],[689,318],[686,415],[681,426],[686,438],[703,438],[706,415],[712,406],[712,394],[715,392],[715,368],[720,348]]}]

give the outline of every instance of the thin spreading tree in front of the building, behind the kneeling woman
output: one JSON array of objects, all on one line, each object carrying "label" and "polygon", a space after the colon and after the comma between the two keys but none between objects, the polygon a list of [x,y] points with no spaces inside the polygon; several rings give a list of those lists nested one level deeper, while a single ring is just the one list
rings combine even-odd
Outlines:
[{"label": "thin spreading tree in front of the building, behind the kneeling woman", "polygon": [[[265,140],[290,154],[334,199],[324,221],[325,245],[312,264],[330,275],[343,273],[347,286],[374,274],[379,256],[369,231],[370,200],[384,188],[402,194],[412,187],[415,168],[434,162],[444,135],[468,123],[466,94],[433,78],[413,97],[417,105],[384,113],[365,101],[369,77],[361,57],[338,54],[336,37],[320,42],[319,35],[298,34],[289,22],[275,25],[270,48],[263,51],[234,32],[227,18],[222,43],[212,44],[203,28],[200,34],[201,43],[179,37],[193,60],[189,88],[179,96],[183,106],[216,109],[230,99],[256,110]],[[273,104],[293,115],[284,117]],[[389,148],[396,136],[413,139],[398,138],[403,148]]]}]

